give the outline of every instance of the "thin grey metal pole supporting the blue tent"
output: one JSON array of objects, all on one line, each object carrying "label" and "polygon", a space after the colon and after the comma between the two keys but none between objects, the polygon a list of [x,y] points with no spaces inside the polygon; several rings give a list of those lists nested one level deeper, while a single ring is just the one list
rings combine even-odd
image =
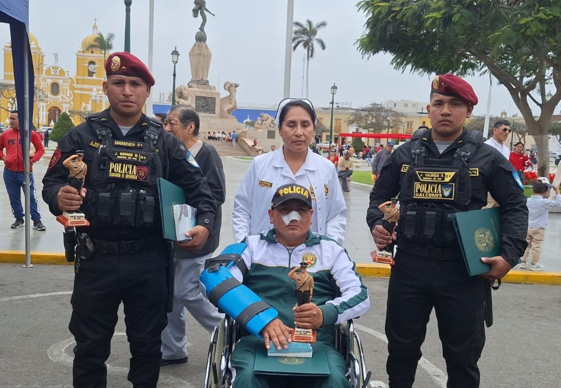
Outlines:
[{"label": "thin grey metal pole supporting the blue tent", "polygon": [[[29,39],[27,38],[27,31],[24,32],[24,127],[20,126],[20,134],[21,131],[24,131],[24,144],[23,144],[23,152],[22,157],[24,158],[24,195],[25,195],[25,265],[24,268],[31,268],[33,264],[31,264],[31,217],[29,216],[29,212],[31,210],[31,199],[30,199],[30,178],[29,178],[29,47],[27,42]],[[18,113],[18,118],[21,115]]]}]

